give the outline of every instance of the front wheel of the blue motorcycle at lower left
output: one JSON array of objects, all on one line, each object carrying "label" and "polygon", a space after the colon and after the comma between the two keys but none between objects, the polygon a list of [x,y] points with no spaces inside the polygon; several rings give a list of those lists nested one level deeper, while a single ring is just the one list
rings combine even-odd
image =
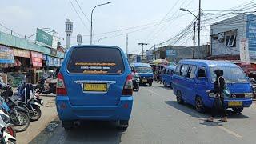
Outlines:
[{"label": "front wheel of the blue motorcycle at lower left", "polygon": [[10,122],[14,124],[14,130],[22,132],[30,126],[30,117],[22,111],[18,111],[18,115],[21,119],[21,123],[18,122],[18,116],[14,112],[10,113]]}]

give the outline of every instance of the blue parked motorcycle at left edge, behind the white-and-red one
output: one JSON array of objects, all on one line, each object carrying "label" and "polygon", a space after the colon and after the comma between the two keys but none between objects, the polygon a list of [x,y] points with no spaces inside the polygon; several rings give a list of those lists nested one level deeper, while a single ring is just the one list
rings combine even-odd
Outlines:
[{"label": "blue parked motorcycle at left edge, behind the white-and-red one", "polygon": [[14,125],[14,129],[17,132],[24,131],[30,126],[30,111],[26,108],[18,106],[18,103],[10,98],[13,95],[13,90],[10,86],[3,86],[1,97],[4,98],[4,102],[10,108],[6,110],[10,115],[10,122]]}]

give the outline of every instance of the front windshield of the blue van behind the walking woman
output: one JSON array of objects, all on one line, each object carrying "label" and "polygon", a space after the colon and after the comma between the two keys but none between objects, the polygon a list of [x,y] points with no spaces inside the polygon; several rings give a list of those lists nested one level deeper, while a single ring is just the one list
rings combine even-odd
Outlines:
[{"label": "front windshield of the blue van behind the walking woman", "polygon": [[212,82],[216,80],[216,74],[214,70],[223,70],[223,77],[226,82],[248,82],[246,79],[246,74],[239,67],[229,67],[229,66],[211,66],[210,67],[210,79]]}]

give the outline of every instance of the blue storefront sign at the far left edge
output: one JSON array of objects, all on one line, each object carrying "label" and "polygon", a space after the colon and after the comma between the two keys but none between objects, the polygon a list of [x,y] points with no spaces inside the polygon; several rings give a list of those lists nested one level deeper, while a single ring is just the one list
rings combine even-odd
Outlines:
[{"label": "blue storefront sign at the far left edge", "polygon": [[14,51],[10,47],[0,46],[0,63],[14,64]]}]

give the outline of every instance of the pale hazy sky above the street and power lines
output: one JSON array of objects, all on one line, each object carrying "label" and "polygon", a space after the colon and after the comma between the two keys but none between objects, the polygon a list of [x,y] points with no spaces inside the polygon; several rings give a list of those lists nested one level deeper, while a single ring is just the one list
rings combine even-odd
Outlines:
[{"label": "pale hazy sky above the street and power lines", "polygon": [[[139,42],[148,43],[144,50],[150,49],[154,44],[174,37],[189,25],[194,16],[179,8],[198,14],[198,0],[8,0],[1,2],[0,24],[22,36],[34,34],[37,28],[50,27],[58,32],[59,37],[66,38],[65,21],[69,18],[74,22],[71,46],[77,44],[77,34],[83,35],[82,44],[90,44],[90,12],[94,6],[105,2],[111,3],[94,10],[94,44],[102,38],[99,44],[119,46],[126,50],[128,34],[128,54],[142,51],[142,47],[138,46]],[[202,0],[202,10],[228,10],[244,2],[250,1]],[[0,30],[10,33],[1,26]],[[30,38],[33,39],[34,37]],[[209,30],[203,27],[201,43],[207,42]],[[61,43],[62,46],[66,45],[65,41]],[[192,46],[192,37],[175,44]]]}]

